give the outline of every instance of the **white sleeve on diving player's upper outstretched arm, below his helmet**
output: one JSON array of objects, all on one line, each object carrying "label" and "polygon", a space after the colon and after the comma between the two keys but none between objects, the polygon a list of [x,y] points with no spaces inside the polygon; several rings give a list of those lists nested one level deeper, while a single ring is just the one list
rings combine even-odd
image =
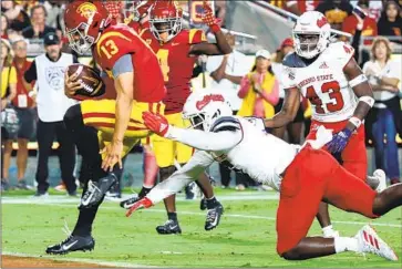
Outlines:
[{"label": "white sleeve on diving player's upper outstretched arm, below his helmet", "polygon": [[241,128],[225,128],[204,132],[199,130],[186,130],[171,126],[167,138],[181,142],[200,151],[227,151],[239,144],[243,139]]}]

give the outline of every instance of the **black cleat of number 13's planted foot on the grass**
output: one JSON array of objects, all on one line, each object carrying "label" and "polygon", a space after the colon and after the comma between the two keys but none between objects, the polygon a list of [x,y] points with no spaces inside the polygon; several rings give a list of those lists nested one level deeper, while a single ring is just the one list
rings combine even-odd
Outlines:
[{"label": "black cleat of number 13's planted foot on the grass", "polygon": [[95,248],[95,240],[92,236],[69,236],[61,244],[47,248],[47,254],[50,255],[66,255],[72,251],[91,251]]}]

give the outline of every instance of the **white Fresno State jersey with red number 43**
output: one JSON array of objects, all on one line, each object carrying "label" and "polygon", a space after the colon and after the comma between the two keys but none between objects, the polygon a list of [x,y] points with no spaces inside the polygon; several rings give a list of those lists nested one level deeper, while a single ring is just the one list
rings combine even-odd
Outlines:
[{"label": "white Fresno State jersey with red number 43", "polygon": [[284,60],[284,89],[297,87],[312,105],[312,120],[341,122],[350,118],[358,97],[349,86],[343,68],[353,56],[353,48],[344,42],[329,46],[307,65],[295,52]]}]

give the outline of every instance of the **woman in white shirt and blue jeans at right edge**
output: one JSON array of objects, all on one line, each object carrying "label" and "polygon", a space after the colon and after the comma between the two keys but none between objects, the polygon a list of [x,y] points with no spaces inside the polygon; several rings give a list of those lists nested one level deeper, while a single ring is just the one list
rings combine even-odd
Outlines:
[{"label": "woman in white shirt and blue jeans at right edge", "polygon": [[[375,104],[372,108],[372,136],[374,139],[375,165],[384,169],[391,184],[400,182],[399,156],[396,145],[396,131],[402,134],[402,110],[398,85],[401,81],[401,65],[391,60],[390,41],[379,37],[372,44],[372,60],[363,66],[373,89]],[[370,124],[368,124],[370,125]],[[368,133],[369,133],[368,132]],[[384,143],[386,135],[386,143]],[[385,163],[386,162],[386,163]]]}]

